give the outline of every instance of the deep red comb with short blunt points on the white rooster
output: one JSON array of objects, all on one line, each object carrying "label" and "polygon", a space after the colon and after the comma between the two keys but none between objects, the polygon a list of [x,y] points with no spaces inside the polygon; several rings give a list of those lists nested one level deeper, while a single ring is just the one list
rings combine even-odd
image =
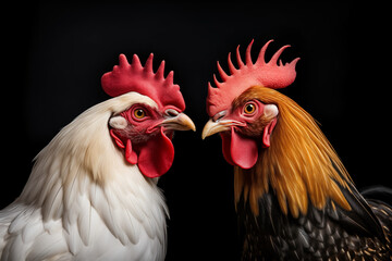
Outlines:
[{"label": "deep red comb with short blunt points on the white rooster", "polygon": [[161,109],[185,110],[185,101],[180,86],[173,84],[173,71],[164,77],[164,61],[162,61],[157,72],[154,73],[152,59],[154,54],[151,53],[143,66],[136,54],[133,55],[132,64],[127,62],[124,54],[120,54],[119,65],[115,65],[112,72],[103,74],[101,78],[105,92],[117,97],[136,91],[151,98]]}]

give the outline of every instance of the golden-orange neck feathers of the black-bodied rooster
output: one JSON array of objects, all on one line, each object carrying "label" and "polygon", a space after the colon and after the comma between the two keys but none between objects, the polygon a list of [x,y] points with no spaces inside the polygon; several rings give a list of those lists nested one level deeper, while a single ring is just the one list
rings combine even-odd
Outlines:
[{"label": "golden-orange neck feathers of the black-bodied rooster", "polygon": [[265,87],[247,90],[264,103],[279,108],[278,123],[271,135],[271,146],[261,148],[255,166],[234,169],[234,196],[241,194],[258,214],[258,198],[273,189],[283,213],[294,217],[306,214],[309,200],[322,209],[329,199],[350,210],[340,187],[351,182],[347,171],[315,120],[286,96]]}]

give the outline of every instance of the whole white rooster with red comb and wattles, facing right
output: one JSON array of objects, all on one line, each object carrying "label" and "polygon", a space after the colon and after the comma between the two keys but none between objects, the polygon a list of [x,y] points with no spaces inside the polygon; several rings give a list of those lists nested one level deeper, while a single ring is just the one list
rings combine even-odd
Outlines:
[{"label": "whole white rooster with red comb and wattles, facing right", "polygon": [[163,260],[168,208],[157,181],[174,130],[194,129],[164,62],[137,55],[102,76],[114,97],[77,116],[36,157],[0,211],[1,260]]}]

